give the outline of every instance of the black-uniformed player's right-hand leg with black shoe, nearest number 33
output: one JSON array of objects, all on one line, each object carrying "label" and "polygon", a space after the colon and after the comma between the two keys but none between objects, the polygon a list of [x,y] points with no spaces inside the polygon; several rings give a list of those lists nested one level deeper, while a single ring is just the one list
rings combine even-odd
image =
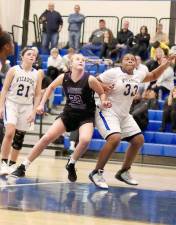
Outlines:
[{"label": "black-uniformed player's right-hand leg with black shoe, nearest number 33", "polygon": [[93,129],[93,122],[85,123],[79,128],[79,142],[66,165],[66,169],[68,171],[68,179],[71,182],[77,180],[75,163],[87,150],[87,146],[92,138]]}]

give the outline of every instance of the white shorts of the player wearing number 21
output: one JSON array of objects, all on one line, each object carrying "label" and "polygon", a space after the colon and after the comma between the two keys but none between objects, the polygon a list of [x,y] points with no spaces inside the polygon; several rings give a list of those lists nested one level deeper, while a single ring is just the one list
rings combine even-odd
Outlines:
[{"label": "white shorts of the player wearing number 21", "polygon": [[16,129],[27,131],[31,124],[27,123],[27,118],[33,110],[33,105],[22,105],[7,100],[4,109],[4,124],[13,124]]}]

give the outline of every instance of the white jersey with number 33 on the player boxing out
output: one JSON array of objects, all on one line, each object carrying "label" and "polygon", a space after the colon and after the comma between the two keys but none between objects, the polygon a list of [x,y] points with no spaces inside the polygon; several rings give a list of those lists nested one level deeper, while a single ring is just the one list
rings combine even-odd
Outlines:
[{"label": "white jersey with number 33 on the player boxing out", "polygon": [[[112,110],[119,117],[129,114],[134,96],[138,91],[139,84],[144,80],[146,73],[135,71],[129,75],[120,67],[112,68],[99,75],[103,83],[113,84],[113,90],[108,94],[112,103]],[[104,109],[106,111],[106,109]]]}]

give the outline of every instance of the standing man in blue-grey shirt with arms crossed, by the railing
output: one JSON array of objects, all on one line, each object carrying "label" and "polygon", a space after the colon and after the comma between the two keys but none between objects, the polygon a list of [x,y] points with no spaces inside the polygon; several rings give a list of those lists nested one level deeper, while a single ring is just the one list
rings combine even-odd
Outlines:
[{"label": "standing man in blue-grey shirt with arms crossed, by the railing", "polygon": [[80,49],[81,25],[84,22],[84,15],[80,14],[80,6],[75,5],[75,13],[68,17],[69,47],[74,48],[76,52]]}]

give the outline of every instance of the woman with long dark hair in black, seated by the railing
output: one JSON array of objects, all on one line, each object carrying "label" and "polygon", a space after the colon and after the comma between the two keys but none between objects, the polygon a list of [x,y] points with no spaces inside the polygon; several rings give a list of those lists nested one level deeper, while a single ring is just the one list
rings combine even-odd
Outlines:
[{"label": "woman with long dark hair in black, seated by the railing", "polygon": [[130,52],[134,55],[139,55],[142,60],[148,59],[148,47],[150,41],[150,34],[146,26],[140,28],[138,33],[133,39],[133,47]]}]

